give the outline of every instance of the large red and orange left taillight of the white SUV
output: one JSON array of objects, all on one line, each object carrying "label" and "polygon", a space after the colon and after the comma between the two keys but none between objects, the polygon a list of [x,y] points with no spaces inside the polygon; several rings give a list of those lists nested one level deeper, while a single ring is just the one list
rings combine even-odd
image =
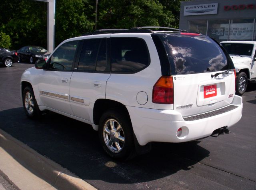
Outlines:
[{"label": "large red and orange left taillight of the white SUV", "polygon": [[161,76],[153,87],[152,102],[156,104],[173,104],[172,76]]}]

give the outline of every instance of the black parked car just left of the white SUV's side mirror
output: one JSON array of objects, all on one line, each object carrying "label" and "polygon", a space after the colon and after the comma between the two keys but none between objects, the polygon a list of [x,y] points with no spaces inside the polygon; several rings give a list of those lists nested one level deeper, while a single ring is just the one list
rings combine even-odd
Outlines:
[{"label": "black parked car just left of the white SUV's side mirror", "polygon": [[18,50],[19,61],[27,61],[32,64],[39,59],[47,60],[49,55],[50,52],[40,46],[24,46]]}]

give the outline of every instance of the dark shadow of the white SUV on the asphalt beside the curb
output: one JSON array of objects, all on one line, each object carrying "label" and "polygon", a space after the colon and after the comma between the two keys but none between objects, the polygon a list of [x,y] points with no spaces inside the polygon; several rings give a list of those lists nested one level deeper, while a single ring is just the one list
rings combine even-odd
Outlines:
[{"label": "dark shadow of the white SUV on the asphalt beside the curb", "polygon": [[153,143],[150,153],[119,162],[104,153],[98,132],[90,125],[53,112],[31,120],[23,108],[0,111],[0,128],[97,188],[99,180],[103,184],[157,180],[190,170],[210,154],[199,141]]}]

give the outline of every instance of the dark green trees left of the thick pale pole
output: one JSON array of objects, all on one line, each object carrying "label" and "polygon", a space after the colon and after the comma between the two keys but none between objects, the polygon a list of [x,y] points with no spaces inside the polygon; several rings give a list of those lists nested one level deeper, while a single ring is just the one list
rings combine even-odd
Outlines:
[{"label": "dark green trees left of the thick pale pole", "polygon": [[12,39],[12,49],[25,45],[46,47],[47,3],[32,0],[1,0],[0,31]]}]

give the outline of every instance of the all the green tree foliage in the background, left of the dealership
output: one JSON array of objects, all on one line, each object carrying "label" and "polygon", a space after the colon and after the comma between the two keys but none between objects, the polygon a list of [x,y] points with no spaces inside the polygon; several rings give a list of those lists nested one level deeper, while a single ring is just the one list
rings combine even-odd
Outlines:
[{"label": "all the green tree foliage in the background, left of the dealership", "polygon": [[[46,47],[47,3],[1,0],[0,32],[11,48]],[[180,0],[98,0],[97,29],[167,26],[178,28]],[[55,45],[94,30],[95,0],[56,0]]]}]

